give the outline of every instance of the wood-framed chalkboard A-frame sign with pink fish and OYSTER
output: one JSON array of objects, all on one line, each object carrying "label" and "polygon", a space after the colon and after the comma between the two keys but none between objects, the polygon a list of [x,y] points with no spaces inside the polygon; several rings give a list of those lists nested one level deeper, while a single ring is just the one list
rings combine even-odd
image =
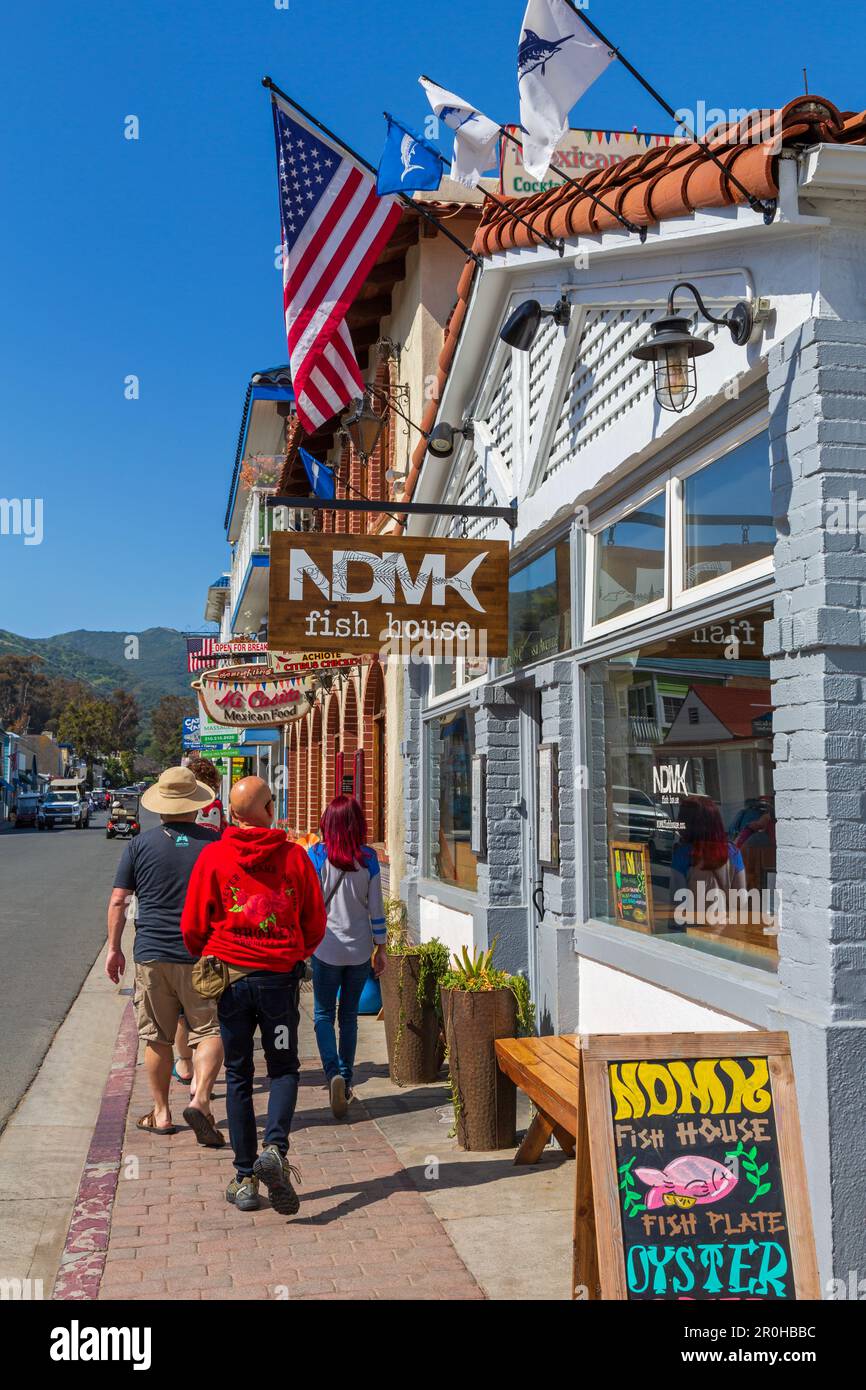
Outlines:
[{"label": "wood-framed chalkboard A-frame sign with pink fish and OYSTER", "polygon": [[787,1033],[581,1040],[574,1297],[820,1298]]}]

